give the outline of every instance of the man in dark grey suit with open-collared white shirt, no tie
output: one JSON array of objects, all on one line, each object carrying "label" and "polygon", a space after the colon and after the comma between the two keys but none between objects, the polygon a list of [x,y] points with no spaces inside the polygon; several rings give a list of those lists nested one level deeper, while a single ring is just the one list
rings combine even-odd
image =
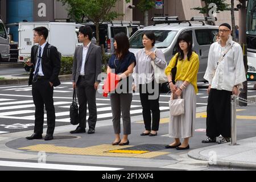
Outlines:
[{"label": "man in dark grey suit with open-collared white shirt, no tie", "polygon": [[85,133],[86,128],[86,107],[88,103],[89,118],[88,134],[95,133],[97,121],[96,90],[100,80],[97,80],[101,73],[101,48],[91,42],[93,37],[92,28],[82,26],[79,28],[79,41],[83,46],[76,47],[72,81],[73,89],[76,88],[79,101],[79,126],[70,133]]}]

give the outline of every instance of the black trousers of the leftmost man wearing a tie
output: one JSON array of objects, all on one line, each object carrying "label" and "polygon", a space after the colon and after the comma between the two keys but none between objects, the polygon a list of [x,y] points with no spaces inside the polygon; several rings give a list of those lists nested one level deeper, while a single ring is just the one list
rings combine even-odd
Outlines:
[{"label": "black trousers of the leftmost man wearing a tie", "polygon": [[32,83],[32,96],[35,104],[35,127],[34,133],[43,133],[44,124],[44,105],[47,114],[47,134],[53,134],[55,129],[55,108],[53,105],[53,86],[49,80],[38,78]]}]

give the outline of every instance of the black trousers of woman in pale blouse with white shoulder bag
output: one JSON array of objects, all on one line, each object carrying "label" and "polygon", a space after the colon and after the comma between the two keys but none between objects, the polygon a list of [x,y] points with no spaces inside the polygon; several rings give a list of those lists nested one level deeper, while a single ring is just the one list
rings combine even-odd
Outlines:
[{"label": "black trousers of woman in pale blouse with white shoulder bag", "polygon": [[159,129],[159,121],[160,121],[159,94],[160,94],[160,84],[154,81],[148,84],[139,84],[139,96],[141,97],[144,125],[145,125],[145,129],[149,131],[151,131],[151,112],[152,112],[152,130],[158,131]]}]

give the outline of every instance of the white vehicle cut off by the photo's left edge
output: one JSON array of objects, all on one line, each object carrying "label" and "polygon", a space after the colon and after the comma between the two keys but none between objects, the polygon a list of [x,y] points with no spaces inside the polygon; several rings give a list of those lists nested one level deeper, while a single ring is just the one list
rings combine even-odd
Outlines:
[{"label": "white vehicle cut off by the photo's left edge", "polygon": [[10,61],[9,36],[5,24],[0,19],[0,63]]}]

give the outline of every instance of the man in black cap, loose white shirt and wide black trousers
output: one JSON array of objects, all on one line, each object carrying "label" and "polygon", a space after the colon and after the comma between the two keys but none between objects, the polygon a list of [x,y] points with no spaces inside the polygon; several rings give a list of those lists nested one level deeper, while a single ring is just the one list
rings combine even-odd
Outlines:
[{"label": "man in black cap, loose white shirt and wide black trousers", "polygon": [[207,139],[202,143],[230,142],[232,94],[238,95],[238,86],[246,81],[243,52],[240,44],[232,40],[231,27],[223,23],[218,30],[220,40],[210,46],[207,71],[204,78],[209,82],[207,105]]}]

